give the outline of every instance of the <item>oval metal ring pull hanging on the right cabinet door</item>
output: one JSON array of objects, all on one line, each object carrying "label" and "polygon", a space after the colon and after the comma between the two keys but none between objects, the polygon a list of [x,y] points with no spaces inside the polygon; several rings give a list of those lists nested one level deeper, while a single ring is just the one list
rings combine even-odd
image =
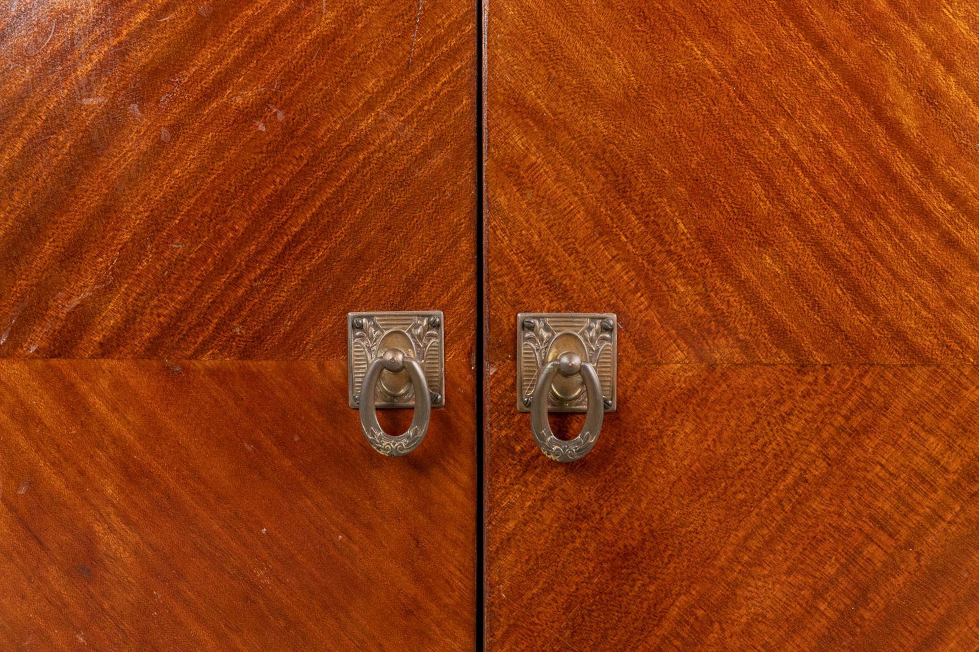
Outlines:
[{"label": "oval metal ring pull hanging on the right cabinet door", "polygon": [[[588,412],[584,417],[582,432],[568,442],[555,437],[550,429],[550,423],[547,422],[547,394],[554,380],[554,374],[558,372],[562,375],[581,373],[588,396]],[[590,364],[583,362],[577,355],[565,354],[547,363],[540,370],[540,377],[537,378],[534,387],[534,398],[531,401],[531,429],[534,431],[537,447],[545,456],[554,461],[568,462],[588,455],[598,441],[604,415],[602,387],[598,382],[598,373]]]}]

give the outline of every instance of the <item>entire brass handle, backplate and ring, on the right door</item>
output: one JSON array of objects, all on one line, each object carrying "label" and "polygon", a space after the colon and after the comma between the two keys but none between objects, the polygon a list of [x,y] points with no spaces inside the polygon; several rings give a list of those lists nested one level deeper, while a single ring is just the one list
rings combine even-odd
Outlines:
[{"label": "entire brass handle, backplate and ring, on the right door", "polygon": [[[581,459],[598,441],[604,413],[616,410],[616,330],[611,313],[517,316],[517,410],[531,413],[545,456]],[[587,413],[582,432],[556,438],[548,412]]]}]

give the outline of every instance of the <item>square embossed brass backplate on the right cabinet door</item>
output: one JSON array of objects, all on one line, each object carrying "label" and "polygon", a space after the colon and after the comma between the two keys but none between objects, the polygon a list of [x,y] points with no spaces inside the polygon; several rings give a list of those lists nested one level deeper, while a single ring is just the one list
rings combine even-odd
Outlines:
[{"label": "square embossed brass backplate on the right cabinet door", "polygon": [[[576,353],[598,372],[605,412],[615,412],[616,342],[613,313],[520,313],[517,315],[517,410],[531,411],[540,369],[562,353]],[[580,375],[557,376],[547,394],[552,413],[587,412]]]}]

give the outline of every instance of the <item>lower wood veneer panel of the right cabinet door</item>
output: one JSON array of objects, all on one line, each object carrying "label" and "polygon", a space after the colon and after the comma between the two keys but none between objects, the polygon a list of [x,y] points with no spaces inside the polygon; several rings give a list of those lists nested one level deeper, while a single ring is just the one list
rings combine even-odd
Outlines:
[{"label": "lower wood veneer panel of the right cabinet door", "polygon": [[489,651],[979,647],[979,369],[626,362],[619,386],[563,465],[492,393]]}]

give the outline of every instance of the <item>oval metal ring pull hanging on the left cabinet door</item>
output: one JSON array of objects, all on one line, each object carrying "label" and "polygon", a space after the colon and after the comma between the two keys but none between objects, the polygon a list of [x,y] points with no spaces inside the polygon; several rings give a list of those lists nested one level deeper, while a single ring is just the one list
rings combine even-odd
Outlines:
[{"label": "oval metal ring pull hanging on the left cabinet door", "polygon": [[[394,355],[388,355],[392,353]],[[411,384],[415,388],[415,415],[407,431],[397,437],[392,437],[384,431],[377,420],[377,410],[374,408],[374,393],[383,369],[390,371],[407,369]],[[417,361],[404,355],[399,349],[389,349],[384,357],[377,358],[370,364],[360,386],[360,429],[363,430],[364,439],[375,451],[389,457],[408,455],[425,439],[431,415],[432,397],[429,394],[428,383],[425,382],[425,371]]]}]

